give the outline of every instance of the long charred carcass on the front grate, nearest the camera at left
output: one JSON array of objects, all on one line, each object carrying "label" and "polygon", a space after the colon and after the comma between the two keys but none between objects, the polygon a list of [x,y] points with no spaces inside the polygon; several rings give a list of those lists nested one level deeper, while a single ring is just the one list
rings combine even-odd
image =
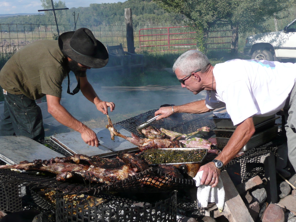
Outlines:
[{"label": "long charred carcass on the front grate, nearest the camera at left", "polygon": [[[83,155],[80,155],[79,157],[82,156]],[[78,155],[74,155],[72,159],[76,161],[77,157]],[[128,176],[135,175],[136,173],[148,168],[148,164],[134,154],[120,153],[118,157],[126,164],[117,168],[101,168],[96,166],[96,164],[84,165],[67,162],[47,163],[47,160],[35,160],[33,163],[0,165],[0,169],[46,171],[56,174],[57,181],[65,181],[73,176],[81,176],[85,180],[109,184],[127,178]],[[71,158],[57,158],[57,160],[61,161],[69,159]]]}]

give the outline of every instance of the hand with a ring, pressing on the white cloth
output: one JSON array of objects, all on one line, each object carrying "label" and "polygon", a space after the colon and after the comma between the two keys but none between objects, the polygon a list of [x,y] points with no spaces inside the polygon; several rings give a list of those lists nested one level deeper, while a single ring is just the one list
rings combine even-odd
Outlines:
[{"label": "hand with a ring, pressing on the white cloth", "polygon": [[212,188],[217,186],[221,171],[215,166],[215,163],[210,162],[202,165],[198,172],[202,170],[204,172],[202,173],[200,184],[210,185]]}]

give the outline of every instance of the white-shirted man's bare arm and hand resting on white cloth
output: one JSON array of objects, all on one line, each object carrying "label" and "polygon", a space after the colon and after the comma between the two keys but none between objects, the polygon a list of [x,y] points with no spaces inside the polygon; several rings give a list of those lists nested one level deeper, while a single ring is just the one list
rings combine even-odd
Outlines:
[{"label": "white-shirted man's bare arm and hand resting on white cloth", "polygon": [[[242,123],[237,125],[234,133],[230,137],[228,143],[223,148],[221,153],[215,158],[216,160],[221,160],[224,166],[232,160],[235,155],[247,144],[251,139],[252,135],[255,133],[255,126],[253,118],[249,117],[244,120]],[[219,176],[221,171],[216,168],[213,162],[202,165],[198,171],[204,170],[200,184],[208,184],[211,187],[217,186]],[[215,178],[213,183],[212,178]]]}]

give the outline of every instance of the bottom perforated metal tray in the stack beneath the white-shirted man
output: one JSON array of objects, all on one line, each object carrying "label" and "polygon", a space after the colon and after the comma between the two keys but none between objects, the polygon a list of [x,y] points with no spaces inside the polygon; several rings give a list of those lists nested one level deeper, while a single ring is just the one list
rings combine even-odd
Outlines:
[{"label": "bottom perforated metal tray in the stack beneath the white-shirted man", "polygon": [[[247,144],[244,145],[244,147],[242,148],[242,151],[248,151],[249,149],[252,149],[254,147],[259,147],[263,144],[270,142],[277,135],[278,125],[279,124],[276,124],[273,127],[252,136],[251,139],[247,142]],[[223,149],[229,141],[229,138],[226,138],[226,137],[215,137],[215,138],[217,139],[218,149]]]}]

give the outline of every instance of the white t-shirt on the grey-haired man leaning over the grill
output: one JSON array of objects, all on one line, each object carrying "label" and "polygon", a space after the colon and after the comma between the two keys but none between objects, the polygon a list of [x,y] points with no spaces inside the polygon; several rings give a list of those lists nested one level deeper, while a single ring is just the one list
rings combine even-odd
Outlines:
[{"label": "white t-shirt on the grey-haired man leaning over the grill", "polygon": [[273,115],[284,107],[296,80],[296,63],[233,59],[215,65],[216,91],[209,109],[226,106],[234,125],[251,116]]}]

